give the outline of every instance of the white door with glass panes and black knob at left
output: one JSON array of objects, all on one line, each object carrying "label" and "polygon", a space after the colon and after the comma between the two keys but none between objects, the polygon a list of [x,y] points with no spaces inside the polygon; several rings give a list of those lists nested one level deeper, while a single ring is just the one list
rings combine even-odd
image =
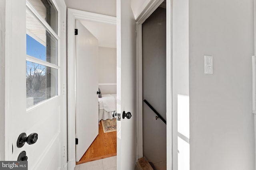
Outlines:
[{"label": "white door with glass panes and black knob at left", "polygon": [[[60,92],[66,83],[65,34],[58,25],[60,18],[66,21],[66,6],[60,11],[52,3],[49,8],[58,12],[52,11],[55,25],[49,25],[30,2],[6,1],[5,160],[17,160],[26,151],[28,170],[65,169],[66,97]],[[18,147],[21,133],[37,133],[33,139],[38,140]]]}]

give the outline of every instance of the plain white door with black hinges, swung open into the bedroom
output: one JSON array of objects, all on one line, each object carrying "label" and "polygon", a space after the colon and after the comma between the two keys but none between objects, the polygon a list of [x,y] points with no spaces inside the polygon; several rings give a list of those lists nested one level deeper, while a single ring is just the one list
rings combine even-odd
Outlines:
[{"label": "plain white door with black hinges, swung open into the bedroom", "polygon": [[76,20],[76,162],[98,135],[98,39]]}]

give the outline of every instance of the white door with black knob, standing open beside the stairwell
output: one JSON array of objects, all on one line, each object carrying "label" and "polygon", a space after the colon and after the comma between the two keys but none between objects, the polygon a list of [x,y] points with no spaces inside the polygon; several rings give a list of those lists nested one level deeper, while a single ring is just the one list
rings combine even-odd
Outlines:
[{"label": "white door with black knob, standing open beside the stairwell", "polygon": [[[136,164],[136,22],[130,0],[117,0],[117,169]],[[122,118],[122,112],[132,117]]]}]

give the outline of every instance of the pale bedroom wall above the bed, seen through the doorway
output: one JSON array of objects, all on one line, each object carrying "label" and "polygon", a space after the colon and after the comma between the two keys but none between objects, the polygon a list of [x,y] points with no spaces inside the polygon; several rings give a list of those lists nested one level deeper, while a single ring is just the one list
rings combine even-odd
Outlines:
[{"label": "pale bedroom wall above the bed, seen through the doorway", "polygon": [[[99,83],[116,83],[116,48],[99,47]],[[100,85],[102,94],[116,94],[116,85]]]}]

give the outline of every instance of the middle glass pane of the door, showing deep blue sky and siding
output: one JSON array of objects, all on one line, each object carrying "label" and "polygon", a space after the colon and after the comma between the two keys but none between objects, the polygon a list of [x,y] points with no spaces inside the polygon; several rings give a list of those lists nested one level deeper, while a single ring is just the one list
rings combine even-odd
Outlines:
[{"label": "middle glass pane of the door, showing deep blue sky and siding", "polygon": [[58,40],[27,9],[26,53],[37,59],[58,65]]}]

